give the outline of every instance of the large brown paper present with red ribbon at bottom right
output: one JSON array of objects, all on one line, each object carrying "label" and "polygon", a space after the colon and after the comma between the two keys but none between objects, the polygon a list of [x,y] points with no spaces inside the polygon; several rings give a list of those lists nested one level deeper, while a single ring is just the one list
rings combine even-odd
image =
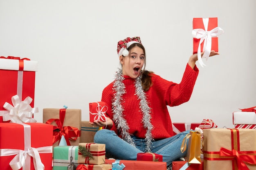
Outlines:
[{"label": "large brown paper present with red ribbon at bottom right", "polygon": [[256,169],[256,130],[204,129],[204,169]]}]

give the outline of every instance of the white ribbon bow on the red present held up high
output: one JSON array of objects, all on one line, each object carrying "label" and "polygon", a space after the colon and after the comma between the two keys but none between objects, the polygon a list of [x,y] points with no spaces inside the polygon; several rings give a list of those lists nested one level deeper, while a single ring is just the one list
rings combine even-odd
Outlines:
[{"label": "white ribbon bow on the red present held up high", "polygon": [[[198,28],[198,29],[193,29],[192,30],[192,36],[196,39],[200,39],[199,45],[198,45],[198,62],[202,67],[205,65],[202,61],[203,58],[207,59],[210,56],[211,53],[211,38],[212,37],[218,37],[218,35],[224,33],[222,28],[220,27],[215,27],[211,31],[207,31],[208,29],[208,23],[209,23],[209,18],[202,18],[203,24],[204,24],[204,29]],[[201,44],[204,41],[204,46],[203,46],[203,51],[204,54],[201,56]],[[206,66],[206,65],[205,65]]]}]

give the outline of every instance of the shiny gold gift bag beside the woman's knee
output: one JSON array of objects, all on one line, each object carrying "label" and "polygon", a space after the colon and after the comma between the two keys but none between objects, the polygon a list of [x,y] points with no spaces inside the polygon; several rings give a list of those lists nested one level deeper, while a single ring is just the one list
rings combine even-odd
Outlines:
[{"label": "shiny gold gift bag beside the woman's knee", "polygon": [[[189,144],[187,146],[187,139],[189,138]],[[186,161],[188,163],[201,163],[201,134],[200,132],[197,131],[190,131],[189,134],[187,134],[183,141],[182,141],[182,146],[180,148],[181,152],[183,153],[186,148],[187,150],[187,156],[186,156]]]}]

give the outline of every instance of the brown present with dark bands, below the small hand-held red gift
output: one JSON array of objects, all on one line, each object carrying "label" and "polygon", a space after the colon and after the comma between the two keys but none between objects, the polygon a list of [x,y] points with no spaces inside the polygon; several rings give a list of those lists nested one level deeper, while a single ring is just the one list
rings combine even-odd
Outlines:
[{"label": "brown present with dark bands, below the small hand-held red gift", "polygon": [[98,126],[92,126],[89,121],[82,121],[80,143],[93,143],[97,131],[99,131]]}]

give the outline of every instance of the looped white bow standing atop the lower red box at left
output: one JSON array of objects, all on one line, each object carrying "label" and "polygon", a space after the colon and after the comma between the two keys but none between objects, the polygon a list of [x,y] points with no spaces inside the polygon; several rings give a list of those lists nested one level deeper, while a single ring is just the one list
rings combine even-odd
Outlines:
[{"label": "looped white bow standing atop the lower red box at left", "polygon": [[35,123],[36,120],[33,117],[33,113],[38,113],[38,108],[32,108],[30,103],[32,102],[31,97],[25,98],[24,101],[20,102],[18,95],[11,97],[11,104],[8,102],[4,103],[4,109],[9,111],[9,114],[3,115],[3,121],[11,120],[12,123]]}]

